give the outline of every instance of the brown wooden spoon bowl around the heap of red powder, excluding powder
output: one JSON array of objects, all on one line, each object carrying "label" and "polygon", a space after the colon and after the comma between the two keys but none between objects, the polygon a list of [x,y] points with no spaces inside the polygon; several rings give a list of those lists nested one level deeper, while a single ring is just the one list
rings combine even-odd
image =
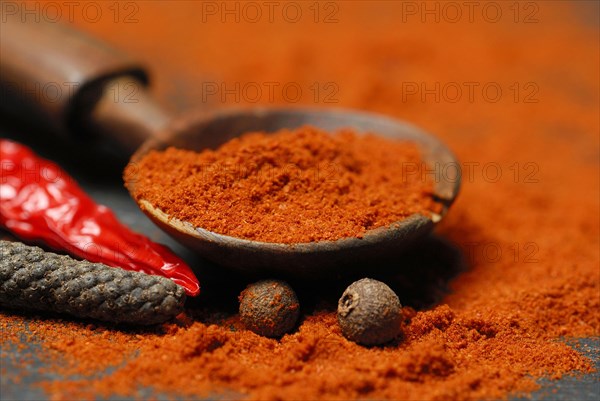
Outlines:
[{"label": "brown wooden spoon bowl around the heap of red powder, excluding powder", "polygon": [[[428,166],[439,171],[456,171],[454,176],[439,174],[436,177],[434,198],[442,205],[441,213],[431,216],[413,214],[388,226],[367,231],[362,238],[283,244],[211,232],[173,218],[144,199],[138,202],[141,210],[177,241],[223,267],[248,273],[308,278],[343,274],[351,266],[368,269],[375,260],[397,255],[428,234],[444,217],[458,194],[459,164],[442,142],[410,124],[347,110],[247,109],[192,115],[176,121],[168,133],[160,136],[168,139],[144,143],[131,161],[135,163],[150,150],[163,150],[169,146],[197,151],[216,149],[246,132],[275,132],[303,125],[313,125],[329,132],[352,128],[358,133],[371,132],[414,142]],[[135,193],[135,180],[127,180],[126,186],[130,193]]]}]

